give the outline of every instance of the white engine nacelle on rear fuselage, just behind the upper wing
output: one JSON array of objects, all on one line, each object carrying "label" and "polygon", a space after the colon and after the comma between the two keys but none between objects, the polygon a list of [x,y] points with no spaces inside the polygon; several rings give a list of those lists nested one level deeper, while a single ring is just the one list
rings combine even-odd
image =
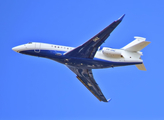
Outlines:
[{"label": "white engine nacelle on rear fuselage, just behind the upper wing", "polygon": [[102,53],[108,57],[122,57],[121,50],[103,47]]}]

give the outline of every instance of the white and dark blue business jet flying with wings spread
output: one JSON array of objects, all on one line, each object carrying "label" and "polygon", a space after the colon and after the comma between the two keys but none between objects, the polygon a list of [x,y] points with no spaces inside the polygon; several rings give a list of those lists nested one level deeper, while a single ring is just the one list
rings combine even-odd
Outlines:
[{"label": "white and dark blue business jet flying with wings spread", "polygon": [[118,66],[136,65],[139,70],[146,70],[140,50],[150,42],[143,37],[135,40],[121,49],[101,47],[111,32],[120,24],[125,14],[112,22],[97,35],[84,44],[74,48],[40,42],[13,47],[12,50],[32,56],[48,58],[66,65],[77,76],[77,79],[99,100],[109,102],[96,83],[92,69],[113,68]]}]

